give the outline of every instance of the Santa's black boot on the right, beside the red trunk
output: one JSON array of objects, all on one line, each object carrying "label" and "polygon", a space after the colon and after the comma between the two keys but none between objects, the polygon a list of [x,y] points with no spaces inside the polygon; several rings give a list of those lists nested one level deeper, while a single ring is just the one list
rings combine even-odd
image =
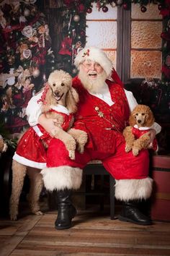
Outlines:
[{"label": "Santa's black boot on the right, beside the red trunk", "polygon": [[151,218],[140,213],[138,201],[123,202],[122,213],[118,216],[120,221],[128,221],[138,225],[151,225]]}]

